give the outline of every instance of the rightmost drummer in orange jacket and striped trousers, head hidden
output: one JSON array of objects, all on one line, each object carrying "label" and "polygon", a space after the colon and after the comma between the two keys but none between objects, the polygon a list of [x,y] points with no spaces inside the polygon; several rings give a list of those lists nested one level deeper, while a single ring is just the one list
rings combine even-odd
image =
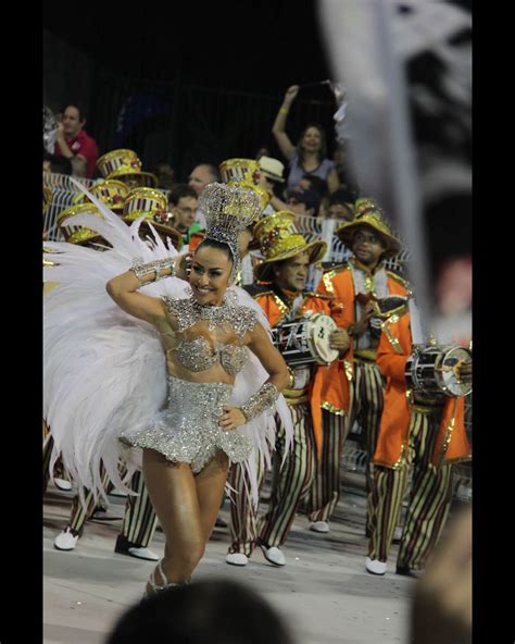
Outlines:
[{"label": "rightmost drummer in orange jacket and striped trousers, head hidden", "polygon": [[[425,568],[443,530],[452,500],[452,463],[468,460],[464,397],[409,389],[406,361],[413,350],[407,310],[386,320],[377,363],[387,379],[385,409],[374,454],[372,537],[367,572],[385,574],[387,558],[410,468],[413,483],[397,558],[397,573],[413,575]],[[457,379],[472,375],[472,362]],[[415,573],[416,575],[416,573]]]}]

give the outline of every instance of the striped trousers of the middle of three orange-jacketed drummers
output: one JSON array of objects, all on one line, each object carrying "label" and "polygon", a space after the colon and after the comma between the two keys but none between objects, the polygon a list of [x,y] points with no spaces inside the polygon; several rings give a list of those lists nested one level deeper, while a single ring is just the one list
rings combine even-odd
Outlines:
[{"label": "striped trousers of the middle of three orange-jacketed drummers", "polygon": [[324,441],[322,458],[316,465],[313,488],[307,501],[307,516],[311,521],[330,519],[340,498],[340,460],[349,430],[357,421],[365,434],[367,454],[366,495],[367,515],[372,503],[373,465],[377,435],[382,413],[385,384],[375,362],[354,361],[354,380],[350,383],[349,416],[339,416],[323,410]]}]

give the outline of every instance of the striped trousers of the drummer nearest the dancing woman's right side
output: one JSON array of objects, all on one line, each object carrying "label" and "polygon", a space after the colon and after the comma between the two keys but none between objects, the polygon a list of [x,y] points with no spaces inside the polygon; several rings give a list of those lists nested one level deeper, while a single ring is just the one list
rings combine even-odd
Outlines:
[{"label": "striped trousers of the drummer nearest the dancing woman's right side", "polygon": [[[258,522],[256,513],[244,494],[244,473],[239,466],[231,469],[229,483],[237,491],[230,508],[230,533],[233,543],[229,553],[243,553],[248,557],[261,540],[268,547],[281,546],[296,518],[297,508],[309,493],[314,473],[313,425],[307,403],[290,407],[293,422],[293,444],[286,455],[277,483],[272,492],[266,513]],[[276,418],[276,456],[285,456],[285,431]],[[260,486],[264,480],[264,466],[259,465]]]}]

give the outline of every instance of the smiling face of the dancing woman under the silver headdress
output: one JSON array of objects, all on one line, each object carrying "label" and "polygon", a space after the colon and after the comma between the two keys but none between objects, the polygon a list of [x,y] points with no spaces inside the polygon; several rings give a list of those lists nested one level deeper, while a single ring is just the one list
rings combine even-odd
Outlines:
[{"label": "smiling face of the dancing woman under the silver headdress", "polygon": [[194,299],[202,306],[218,306],[229,284],[233,261],[225,250],[200,247],[193,255],[189,283]]}]

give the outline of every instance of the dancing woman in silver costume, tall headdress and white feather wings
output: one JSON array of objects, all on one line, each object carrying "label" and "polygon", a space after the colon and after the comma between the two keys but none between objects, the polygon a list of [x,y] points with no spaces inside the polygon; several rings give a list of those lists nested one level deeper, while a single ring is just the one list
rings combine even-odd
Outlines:
[{"label": "dancing woman in silver costume, tall headdress and white feather wings", "polygon": [[[51,379],[48,386],[46,383],[46,418],[54,434],[55,454],[62,451],[64,462],[84,485],[102,493],[97,476],[99,459],[116,479],[118,458],[130,465],[135,450],[142,453],[140,465],[166,536],[164,558],[152,573],[147,593],[188,583],[214,527],[229,462],[247,467],[251,487],[255,487],[252,451],[262,449],[269,458],[276,405],[284,422],[291,428],[286,403],[279,396],[288,382],[286,363],[273,346],[266,320],[251,298],[241,289],[230,288],[239,268],[238,235],[260,208],[259,199],[243,188],[212,184],[205,188],[202,201],[208,226],[205,239],[192,258],[189,297],[185,297],[185,284],[176,276],[179,258],[163,252],[158,239],[153,252],[154,258],[160,256],[158,259],[138,259],[131,269],[108,281],[109,295],[130,318],[125,313],[120,318],[121,311],[113,311],[112,305],[102,300],[95,312],[93,326],[88,329],[86,323],[81,337],[91,347],[95,363],[85,360],[84,347],[66,356],[68,366],[70,358],[72,364],[75,358],[86,369],[86,393],[75,394],[75,409],[71,405],[74,396],[72,401],[66,399],[71,385],[58,382],[58,372],[60,356],[63,357],[66,346],[71,348],[72,339],[79,338],[73,332],[59,340],[55,329],[46,325],[46,376]],[[93,202],[100,207],[98,201]],[[60,252],[52,256],[59,264],[54,277],[67,280],[47,304],[48,317],[54,323],[55,311],[62,312],[60,305],[70,297],[75,298],[76,308],[84,307],[84,289],[79,304],[70,276],[75,270],[77,286],[84,251],[92,252],[98,264],[112,271],[130,244],[138,244],[136,226],[127,228],[129,243],[127,233],[118,227],[121,222],[113,219],[115,215],[105,208],[102,214],[104,221],[79,215],[76,223],[101,228],[103,237],[113,245],[112,250],[99,253],[83,248],[77,253],[77,249],[63,248],[70,245],[53,245],[52,250]],[[149,258],[148,247],[141,246],[139,250]],[[81,280],[84,284],[92,277]],[[152,287],[154,292],[149,293]],[[60,290],[67,293],[61,300]],[[98,302],[98,294],[96,297]],[[134,326],[127,327],[134,319]],[[76,319],[76,323],[80,326],[81,320]],[[66,322],[61,322],[61,331],[66,326]],[[156,361],[156,339],[162,347],[162,361]],[[143,351],[141,343],[148,345]],[[99,370],[102,364],[103,373]],[[164,399],[155,370],[167,383]],[[108,404],[99,395],[95,397],[102,375],[106,376],[104,397],[109,400],[111,394]],[[160,395],[155,388],[161,391]],[[88,392],[93,394],[93,400],[84,400],[89,398]],[[103,411],[98,411],[96,401]],[[68,413],[63,413],[63,404]],[[65,425],[72,418],[74,429],[70,430]],[[77,423],[81,431],[76,429]],[[251,492],[255,496],[256,490]]]}]

